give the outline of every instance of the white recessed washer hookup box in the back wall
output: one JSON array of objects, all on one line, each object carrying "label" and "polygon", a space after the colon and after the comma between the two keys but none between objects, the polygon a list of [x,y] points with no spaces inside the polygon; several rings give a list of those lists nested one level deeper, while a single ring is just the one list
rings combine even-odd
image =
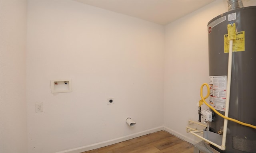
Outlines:
[{"label": "white recessed washer hookup box in the back wall", "polygon": [[52,93],[72,92],[72,80],[70,79],[51,80],[51,91]]}]

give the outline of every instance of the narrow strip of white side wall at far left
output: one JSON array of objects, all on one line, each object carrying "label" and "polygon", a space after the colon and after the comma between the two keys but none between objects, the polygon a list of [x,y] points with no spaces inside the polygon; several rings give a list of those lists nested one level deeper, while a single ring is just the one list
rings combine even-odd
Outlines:
[{"label": "narrow strip of white side wall at far left", "polygon": [[0,152],[27,153],[26,1],[0,1]]}]

